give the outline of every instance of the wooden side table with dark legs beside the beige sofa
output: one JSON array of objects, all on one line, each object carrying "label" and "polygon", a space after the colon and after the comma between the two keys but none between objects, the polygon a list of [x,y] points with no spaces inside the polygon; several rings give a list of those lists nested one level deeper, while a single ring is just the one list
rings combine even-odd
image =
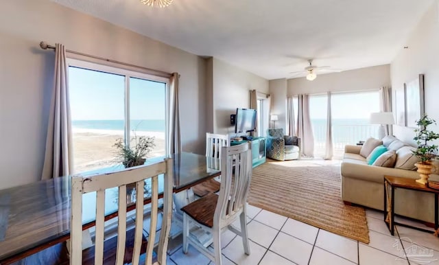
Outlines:
[{"label": "wooden side table with dark legs beside the beige sofa", "polygon": [[[389,196],[389,187],[390,194]],[[416,229],[419,231],[424,231],[427,233],[431,233],[431,231],[427,229],[422,229],[418,227],[412,227],[408,224],[401,224],[399,222],[394,222],[394,205],[395,205],[395,189],[412,189],[418,192],[428,192],[434,194],[434,235],[438,236],[439,233],[439,220],[438,220],[438,189],[431,189],[425,185],[417,183],[412,178],[401,178],[398,176],[384,176],[384,222],[388,224],[388,229],[390,234],[394,234],[394,225],[398,224],[402,227],[410,227],[412,229]]]}]

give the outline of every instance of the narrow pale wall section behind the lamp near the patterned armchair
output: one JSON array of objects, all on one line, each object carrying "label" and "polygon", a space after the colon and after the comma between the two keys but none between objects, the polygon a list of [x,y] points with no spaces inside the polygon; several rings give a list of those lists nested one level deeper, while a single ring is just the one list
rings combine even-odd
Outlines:
[{"label": "narrow pale wall section behind the lamp near the patterned armchair", "polygon": [[[270,115],[277,115],[278,121],[276,128],[283,128],[283,132],[287,132],[287,80],[276,79],[270,80],[271,110]],[[272,122],[270,122],[272,128]]]}]

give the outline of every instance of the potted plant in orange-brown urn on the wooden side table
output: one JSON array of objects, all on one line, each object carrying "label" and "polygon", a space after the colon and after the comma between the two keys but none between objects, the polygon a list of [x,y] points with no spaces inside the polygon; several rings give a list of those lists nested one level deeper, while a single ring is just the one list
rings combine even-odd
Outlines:
[{"label": "potted plant in orange-brown urn on the wooden side table", "polygon": [[429,142],[439,139],[439,134],[434,133],[432,130],[427,130],[427,127],[431,124],[436,125],[436,121],[425,114],[416,121],[416,125],[418,125],[419,128],[414,130],[416,136],[413,138],[416,144],[418,144],[418,148],[412,152],[420,159],[420,162],[415,164],[420,176],[420,179],[416,180],[416,182],[424,185],[427,184],[429,174],[436,170],[435,166],[431,163],[431,159],[436,157],[438,146]]}]

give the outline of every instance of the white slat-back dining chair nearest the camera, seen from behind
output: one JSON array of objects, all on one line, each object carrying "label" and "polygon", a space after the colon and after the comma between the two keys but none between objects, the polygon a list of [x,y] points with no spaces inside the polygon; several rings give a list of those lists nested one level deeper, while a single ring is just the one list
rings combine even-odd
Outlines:
[{"label": "white slat-back dining chair nearest the camera, seen from behind", "polygon": [[[73,176],[71,185],[71,240],[70,264],[139,264],[141,253],[145,252],[146,264],[166,264],[168,235],[172,208],[172,160],[127,168],[119,172],[95,176]],[[158,220],[158,175],[164,174],[163,219],[158,252],[154,253],[156,224]],[[149,242],[143,237],[143,196],[145,180],[151,181],[151,224]],[[126,185],[136,183],[136,223],[127,231]],[[119,210],[117,212],[117,237],[104,241],[105,190],[118,187]],[[82,194],[96,192],[95,246],[82,251]],[[126,244],[129,242],[129,244]],[[90,255],[91,254],[91,255]],[[93,256],[91,258],[90,256]],[[84,257],[84,258],[83,258]],[[153,262],[153,257],[156,261]]]}]

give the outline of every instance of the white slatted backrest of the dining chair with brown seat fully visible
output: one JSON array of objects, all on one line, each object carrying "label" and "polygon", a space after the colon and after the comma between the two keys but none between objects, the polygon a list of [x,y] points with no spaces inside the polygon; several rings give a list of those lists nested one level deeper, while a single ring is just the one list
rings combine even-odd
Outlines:
[{"label": "white slatted backrest of the dining chair with brown seat fully visible", "polygon": [[[221,188],[213,225],[224,227],[244,211],[252,178],[250,143],[222,148]],[[215,224],[216,222],[216,224]]]}]

